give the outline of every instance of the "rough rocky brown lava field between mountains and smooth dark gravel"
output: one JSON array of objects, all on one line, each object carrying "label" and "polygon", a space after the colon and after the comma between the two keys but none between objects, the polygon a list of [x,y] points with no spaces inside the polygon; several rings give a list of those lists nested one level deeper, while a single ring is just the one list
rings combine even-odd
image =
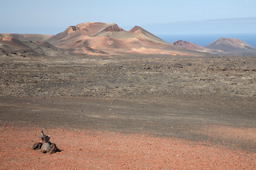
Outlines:
[{"label": "rough rocky brown lava field between mountains and smooth dark gravel", "polygon": [[256,57],[2,58],[1,96],[256,96]]}]

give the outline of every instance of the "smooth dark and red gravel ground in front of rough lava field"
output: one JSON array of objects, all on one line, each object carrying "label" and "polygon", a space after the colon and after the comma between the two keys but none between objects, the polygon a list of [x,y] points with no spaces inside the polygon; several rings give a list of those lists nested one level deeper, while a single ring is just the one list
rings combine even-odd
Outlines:
[{"label": "smooth dark and red gravel ground in front of rough lava field", "polygon": [[[0,169],[255,168],[253,102],[238,100],[237,107],[238,102],[226,98],[227,105],[222,98],[223,104],[210,106],[206,98],[184,103],[180,97],[174,96],[180,103],[174,106],[166,105],[172,97],[3,97]],[[244,115],[230,108],[239,110],[246,103]],[[253,116],[245,114],[250,112]],[[41,130],[59,153],[31,149],[41,141]]]}]

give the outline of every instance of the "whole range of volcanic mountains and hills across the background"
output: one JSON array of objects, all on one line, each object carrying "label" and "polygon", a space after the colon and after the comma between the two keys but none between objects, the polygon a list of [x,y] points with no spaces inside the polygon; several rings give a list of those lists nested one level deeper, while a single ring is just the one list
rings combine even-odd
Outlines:
[{"label": "whole range of volcanic mountains and hills across the background", "polygon": [[[244,41],[222,37],[206,46],[178,40],[167,43],[149,31],[135,25],[125,31],[115,23],[90,22],[69,26],[57,35],[0,34],[1,49],[17,50],[32,48],[37,51],[61,48],[80,54],[169,54],[169,55],[256,55],[256,48]],[[14,36],[11,36],[14,35]],[[22,41],[19,41],[22,40]],[[23,41],[25,40],[25,41]],[[33,44],[32,41],[34,41]],[[29,42],[31,41],[31,42]],[[42,41],[44,43],[42,43]],[[16,45],[15,45],[16,44]],[[38,46],[38,47],[36,47]],[[41,47],[39,47],[41,46]],[[45,48],[44,50],[42,48]],[[39,50],[40,51],[40,50]],[[39,52],[37,51],[37,52]],[[58,51],[58,50],[57,50]],[[52,51],[58,55],[58,52]],[[60,52],[60,50],[59,50]],[[47,53],[47,55],[51,55]],[[60,52],[63,54],[63,52]]]}]

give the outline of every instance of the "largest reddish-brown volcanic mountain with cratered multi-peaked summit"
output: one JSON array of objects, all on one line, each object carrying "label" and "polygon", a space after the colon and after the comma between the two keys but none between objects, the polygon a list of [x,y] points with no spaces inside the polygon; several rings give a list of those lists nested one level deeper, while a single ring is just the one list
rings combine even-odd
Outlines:
[{"label": "largest reddish-brown volcanic mountain with cratered multi-peaked summit", "polygon": [[69,26],[65,31],[46,40],[54,46],[73,52],[87,53],[98,49],[109,54],[173,54],[202,55],[199,52],[168,44],[145,29],[135,26],[130,31],[114,23],[82,23]]}]

